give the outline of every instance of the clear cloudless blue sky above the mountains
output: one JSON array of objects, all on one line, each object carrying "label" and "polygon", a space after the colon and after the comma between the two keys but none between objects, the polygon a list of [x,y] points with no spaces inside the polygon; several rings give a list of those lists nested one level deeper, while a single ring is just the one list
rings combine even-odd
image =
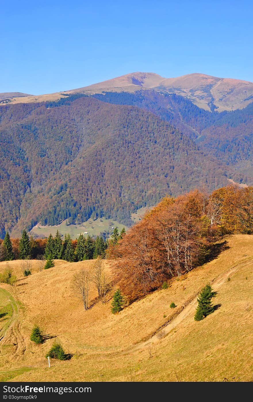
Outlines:
[{"label": "clear cloudless blue sky above the mountains", "polygon": [[2,1],[0,92],[58,92],[136,71],[253,81],[252,16],[252,0]]}]

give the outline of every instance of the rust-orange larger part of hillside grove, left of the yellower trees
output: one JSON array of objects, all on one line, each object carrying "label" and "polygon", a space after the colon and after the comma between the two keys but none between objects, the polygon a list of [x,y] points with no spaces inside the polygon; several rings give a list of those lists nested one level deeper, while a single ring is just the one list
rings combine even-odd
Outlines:
[{"label": "rust-orange larger part of hillside grove, left of the yellower trees", "polygon": [[166,197],[119,241],[115,278],[130,301],[190,271],[208,252],[210,220],[198,191]]}]

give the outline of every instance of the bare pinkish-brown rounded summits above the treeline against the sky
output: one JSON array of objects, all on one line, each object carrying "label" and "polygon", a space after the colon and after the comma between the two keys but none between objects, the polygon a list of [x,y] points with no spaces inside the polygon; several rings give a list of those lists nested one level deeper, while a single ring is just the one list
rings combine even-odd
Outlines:
[{"label": "bare pinkish-brown rounded summits above the treeline against the sky", "polygon": [[206,110],[242,109],[253,102],[252,82],[199,73],[163,78],[153,73],[137,72],[69,92],[95,93],[116,88],[128,92],[134,92],[137,88],[153,88],[158,92],[175,93]]}]

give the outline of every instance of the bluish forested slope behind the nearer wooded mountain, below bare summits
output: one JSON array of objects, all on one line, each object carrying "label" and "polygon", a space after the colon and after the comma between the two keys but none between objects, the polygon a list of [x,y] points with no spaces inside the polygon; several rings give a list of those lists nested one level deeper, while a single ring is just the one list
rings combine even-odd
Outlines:
[{"label": "bluish forested slope behind the nearer wooded mountain, below bare summits", "polygon": [[192,138],[203,152],[252,178],[253,103],[245,109],[219,113],[200,109],[183,96],[154,90],[103,92],[93,96],[117,105],[135,105],[156,114]]}]

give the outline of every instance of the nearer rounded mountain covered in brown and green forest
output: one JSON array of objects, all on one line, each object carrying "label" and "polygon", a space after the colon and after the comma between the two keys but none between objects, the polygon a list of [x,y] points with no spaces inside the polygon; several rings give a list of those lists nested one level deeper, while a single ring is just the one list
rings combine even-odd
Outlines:
[{"label": "nearer rounded mountain covered in brown and green forest", "polygon": [[[192,104],[191,104],[192,105]],[[158,106],[159,107],[159,106]],[[152,110],[154,112],[154,110]],[[81,94],[0,108],[0,234],[130,213],[227,178],[250,183],[165,119]]]}]

